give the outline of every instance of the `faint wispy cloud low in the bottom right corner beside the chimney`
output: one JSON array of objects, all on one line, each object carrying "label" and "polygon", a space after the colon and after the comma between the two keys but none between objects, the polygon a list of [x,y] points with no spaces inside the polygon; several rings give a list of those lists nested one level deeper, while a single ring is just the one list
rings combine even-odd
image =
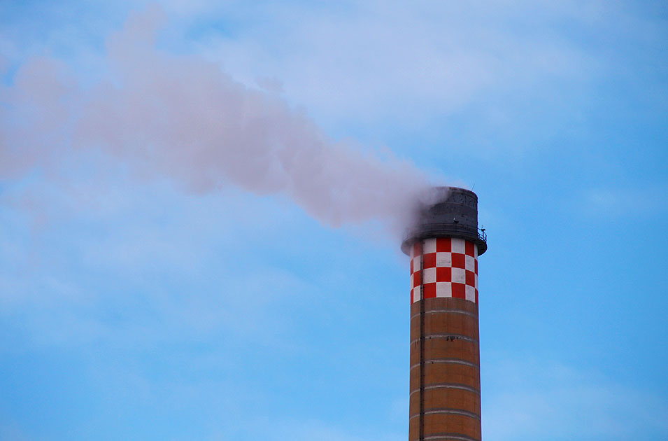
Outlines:
[{"label": "faint wispy cloud low in the bottom right corner beside the chimney", "polygon": [[483,432],[493,440],[660,440],[668,401],[627,381],[558,363],[488,363]]}]

